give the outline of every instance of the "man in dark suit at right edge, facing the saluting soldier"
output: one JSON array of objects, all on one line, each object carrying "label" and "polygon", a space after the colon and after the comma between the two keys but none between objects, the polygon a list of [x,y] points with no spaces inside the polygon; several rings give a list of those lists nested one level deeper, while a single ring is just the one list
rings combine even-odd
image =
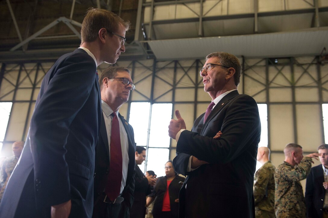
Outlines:
[{"label": "man in dark suit at right edge, facing the saluting soldier", "polygon": [[320,165],[311,168],[306,178],[306,217],[328,217],[328,145],[318,147]]}]

